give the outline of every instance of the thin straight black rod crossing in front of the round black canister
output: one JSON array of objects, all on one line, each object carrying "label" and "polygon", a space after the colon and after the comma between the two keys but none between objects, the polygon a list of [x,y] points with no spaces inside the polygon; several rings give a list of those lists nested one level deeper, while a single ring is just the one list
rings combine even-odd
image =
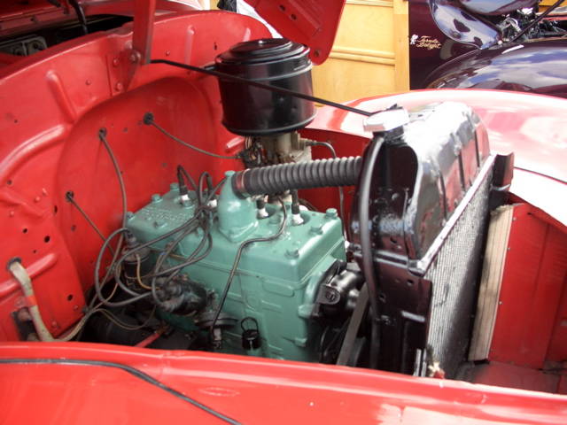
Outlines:
[{"label": "thin straight black rod crossing in front of the round black canister", "polygon": [[304,93],[299,93],[297,91],[293,91],[293,90],[290,90],[290,89],[283,89],[281,87],[270,86],[269,84],[263,84],[263,83],[258,82],[258,81],[247,80],[245,78],[237,77],[236,75],[231,75],[229,73],[220,73],[220,72],[214,71],[214,69],[211,69],[211,68],[208,68],[208,67],[202,68],[200,66],[192,66],[192,65],[182,64],[180,62],[174,62],[173,60],[167,60],[167,59],[151,59],[150,63],[151,64],[165,64],[165,65],[169,65],[169,66],[177,66],[179,68],[188,69],[190,71],[195,71],[197,73],[206,73],[207,75],[213,75],[214,77],[217,77],[219,79],[237,81],[237,82],[241,82],[243,84],[247,84],[249,86],[258,87],[260,89],[267,89],[267,90],[270,90],[270,91],[275,91],[276,93],[280,93],[282,95],[299,97],[300,99],[309,100],[311,102],[317,102],[319,104],[326,104],[328,106],[332,106],[332,107],[337,108],[337,109],[342,109],[344,111],[358,113],[359,115],[364,115],[365,117],[369,117],[370,115],[374,115],[374,113],[375,113],[375,112],[362,111],[361,109],[353,108],[352,106],[347,106],[346,104],[338,104],[336,102],[331,102],[330,100],[322,99],[321,97],[306,95]]}]

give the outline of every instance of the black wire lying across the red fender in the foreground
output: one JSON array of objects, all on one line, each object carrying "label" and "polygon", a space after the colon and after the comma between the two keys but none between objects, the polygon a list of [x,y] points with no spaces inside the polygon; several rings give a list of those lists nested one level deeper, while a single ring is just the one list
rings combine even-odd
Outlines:
[{"label": "black wire lying across the red fender in the foreground", "polygon": [[115,369],[120,369],[134,377],[141,379],[146,383],[150,383],[153,386],[158,387],[160,390],[164,390],[176,398],[180,398],[183,401],[189,403],[192,406],[198,407],[202,411],[213,415],[214,417],[225,421],[232,425],[240,425],[240,422],[230,418],[229,416],[220,413],[213,408],[206,406],[198,402],[194,398],[190,398],[183,394],[183,392],[175,390],[170,386],[166,385],[155,379],[153,376],[146,374],[145,372],[137,369],[136,367],[131,367],[121,363],[116,363],[113,361],[103,361],[103,360],[87,360],[87,359],[0,359],[0,364],[4,365],[81,365],[81,366],[97,366],[97,367],[112,367]]}]

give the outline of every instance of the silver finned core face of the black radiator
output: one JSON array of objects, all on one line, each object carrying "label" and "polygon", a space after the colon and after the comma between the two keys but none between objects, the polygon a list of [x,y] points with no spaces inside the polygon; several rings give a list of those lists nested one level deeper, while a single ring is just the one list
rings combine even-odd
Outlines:
[{"label": "silver finned core face of the black radiator", "polygon": [[432,284],[427,345],[449,378],[456,374],[470,341],[491,181],[492,172],[486,173],[425,274]]}]

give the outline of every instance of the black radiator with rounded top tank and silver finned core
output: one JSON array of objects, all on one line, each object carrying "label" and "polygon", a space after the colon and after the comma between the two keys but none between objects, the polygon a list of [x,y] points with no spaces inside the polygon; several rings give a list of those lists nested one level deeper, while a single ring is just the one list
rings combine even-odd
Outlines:
[{"label": "black radiator with rounded top tank and silver finned core", "polygon": [[[486,129],[469,106],[409,113],[380,148],[369,217],[384,370],[451,377],[465,359],[493,180]],[[353,211],[353,242],[364,228]],[[360,261],[361,256],[359,257]]]}]

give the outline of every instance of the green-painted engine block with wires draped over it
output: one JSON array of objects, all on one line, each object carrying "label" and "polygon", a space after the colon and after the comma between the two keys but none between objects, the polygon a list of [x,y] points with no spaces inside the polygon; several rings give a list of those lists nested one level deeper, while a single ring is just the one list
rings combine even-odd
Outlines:
[{"label": "green-painted engine block with wires draped over it", "polygon": [[[227,173],[218,207],[213,214],[213,248],[205,259],[183,269],[191,281],[206,289],[210,297],[206,311],[213,312],[225,288],[237,249],[243,241],[274,235],[280,228],[281,206],[267,205],[268,217],[257,218],[251,198],[238,197],[232,191],[232,173]],[[194,195],[194,194],[192,194]],[[316,361],[321,337],[320,325],[311,319],[315,297],[323,274],[336,262],[345,260],[345,241],[337,211],[302,212],[303,223],[294,225],[290,205],[285,206],[287,223],[282,236],[270,242],[252,243],[240,259],[222,313],[235,324],[222,330],[222,352],[244,354],[241,321],[253,318],[260,330],[260,349],[249,352],[276,359]],[[146,242],[179,227],[193,216],[196,202],[182,204],[179,188],[170,191],[128,219],[128,228],[140,242]],[[172,236],[156,243],[162,250]],[[170,257],[170,266],[179,264],[194,251],[203,238],[201,228],[186,236]],[[202,312],[201,312],[202,313]],[[194,327],[193,318],[169,316],[172,324]]]}]

